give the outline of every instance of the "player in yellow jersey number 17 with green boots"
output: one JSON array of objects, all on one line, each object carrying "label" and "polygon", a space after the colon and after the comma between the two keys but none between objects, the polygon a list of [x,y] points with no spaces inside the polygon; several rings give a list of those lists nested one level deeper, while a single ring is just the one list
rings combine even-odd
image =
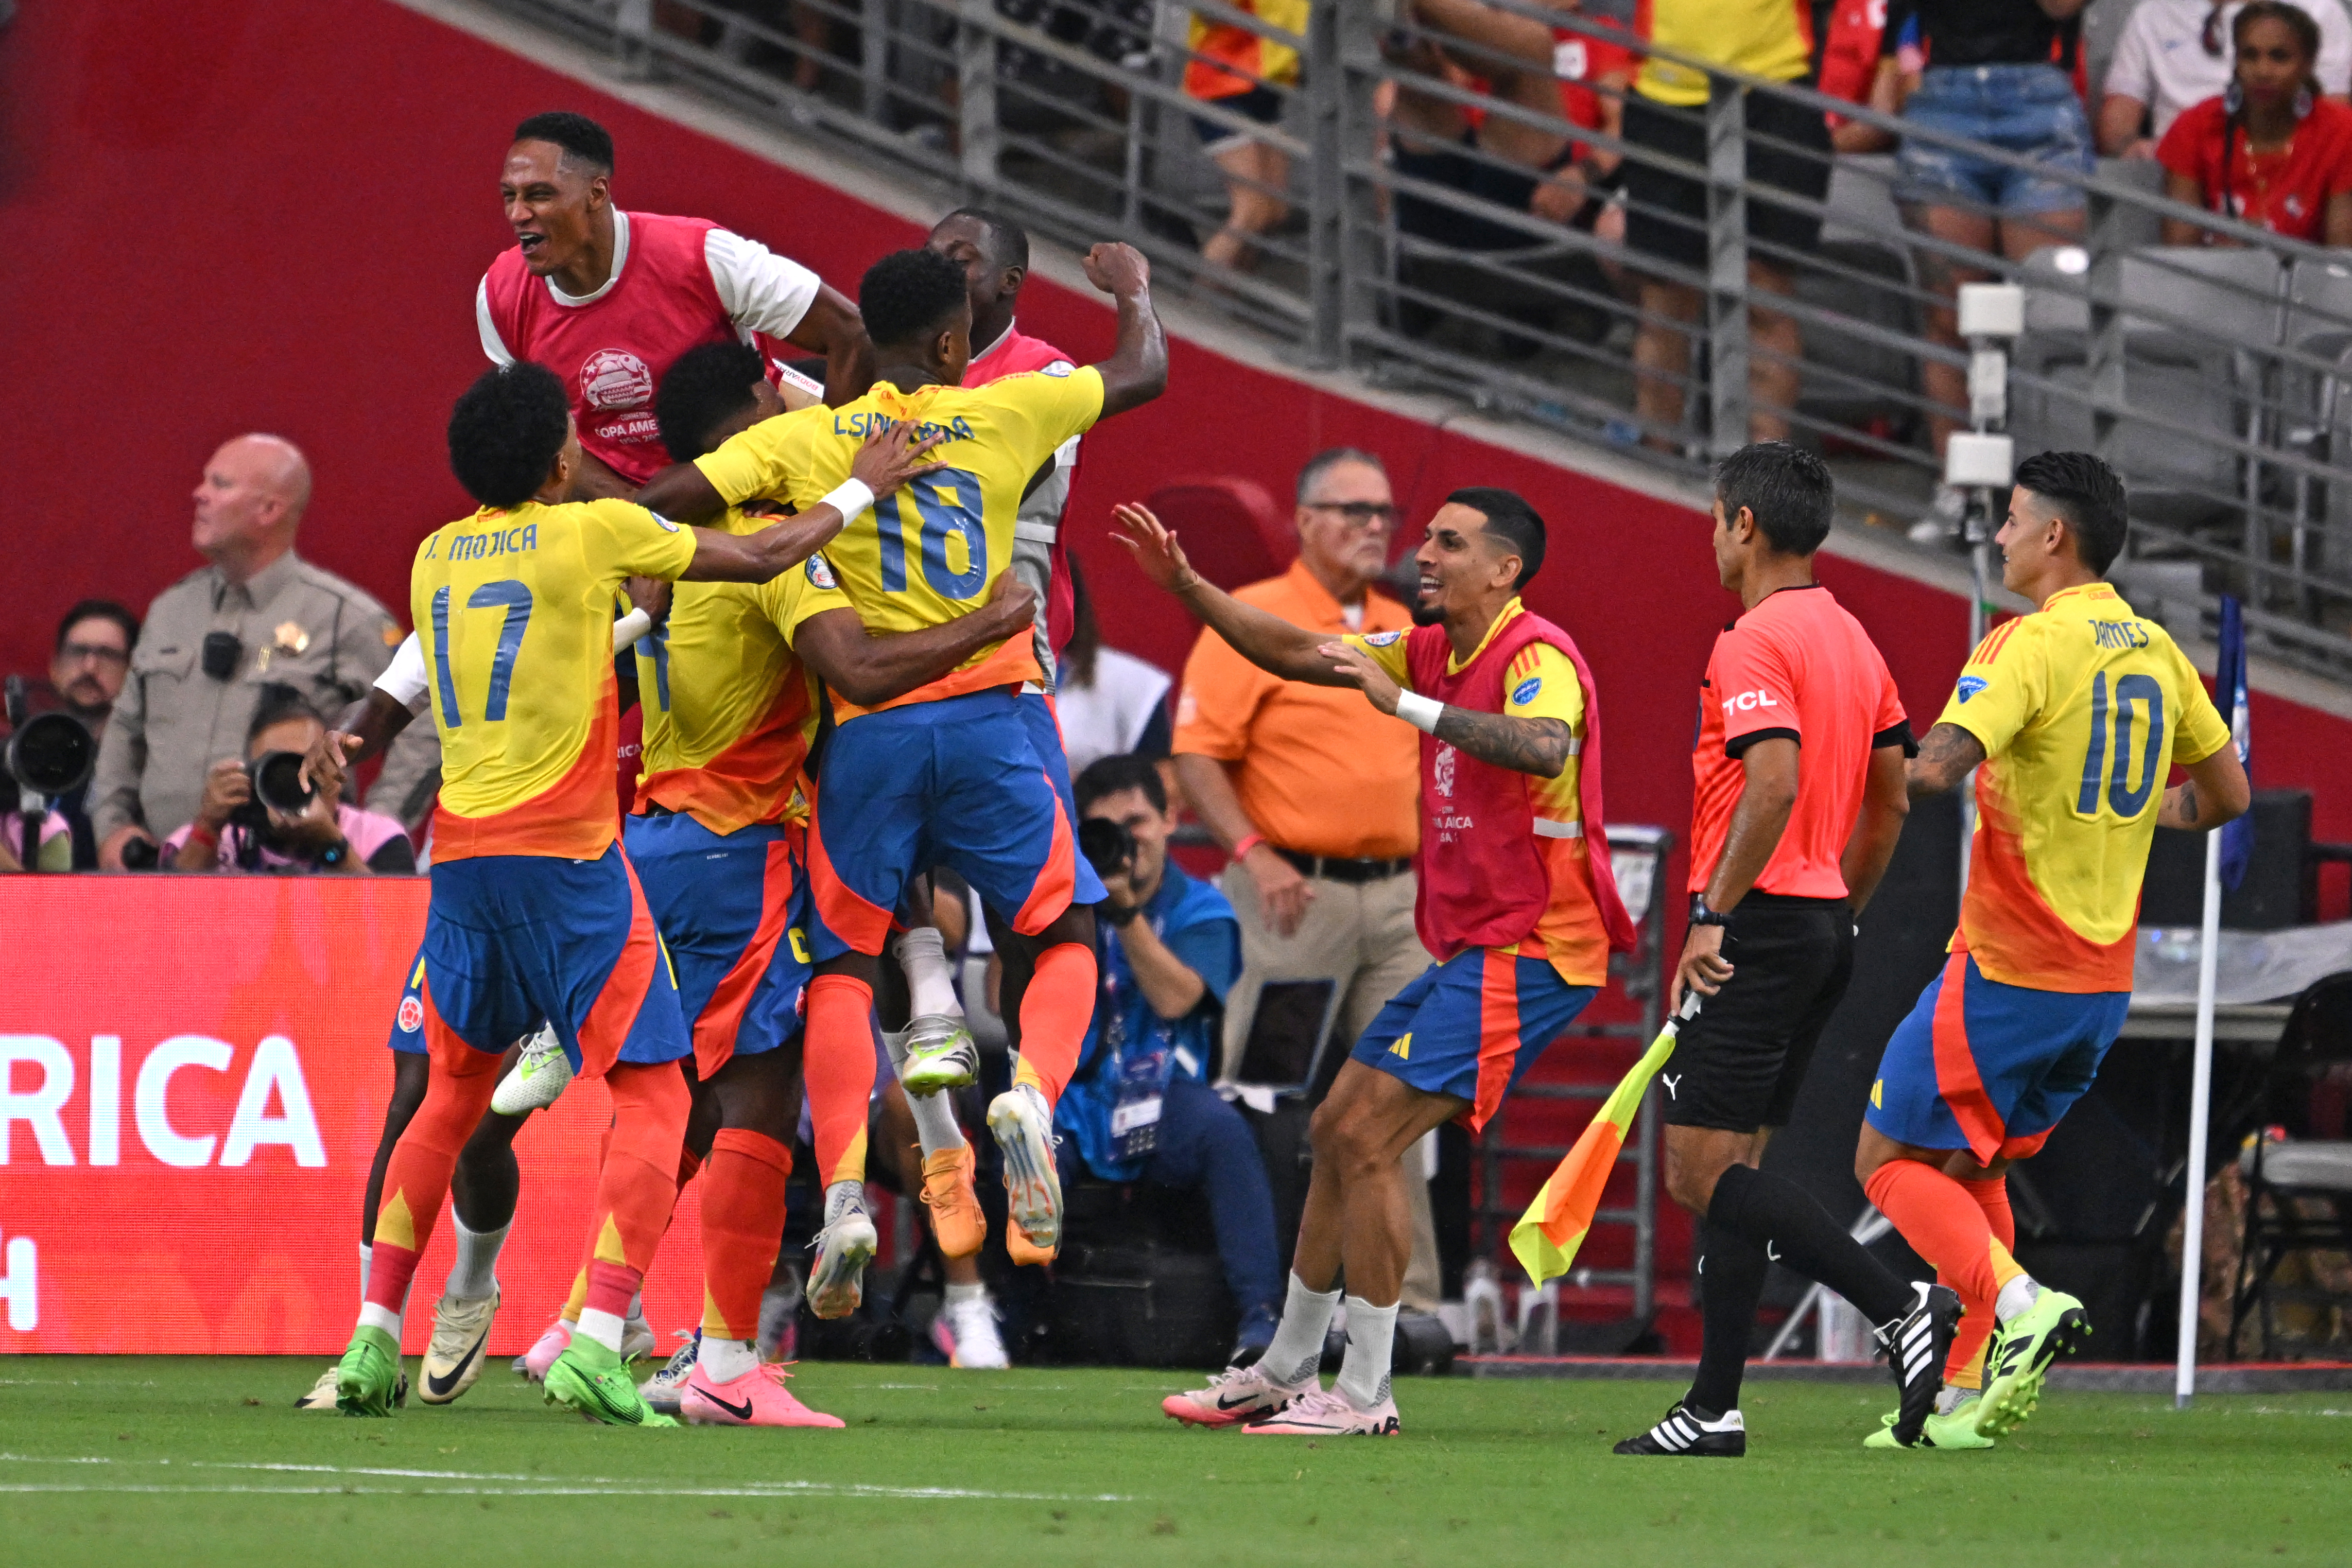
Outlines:
[{"label": "player in yellow jersey number 17 with green boots", "polygon": [[[590,1227],[588,1305],[548,1399],[616,1425],[649,1413],[621,1321],[677,1197],[687,1056],[677,987],[616,844],[612,604],[628,576],[764,583],[830,538],[851,496],[927,473],[915,433],[856,456],[856,489],[748,536],[680,529],[626,501],[567,503],[579,433],[562,381],[501,364],[449,418],[449,465],[482,503],[416,550],[409,599],[442,741],[421,987],[423,1105],[393,1147],[360,1324],[336,1375],[350,1415],[390,1415],[400,1312],[499,1053],[546,1018],[602,1077],[614,1128]],[[863,501],[858,503],[863,505]],[[666,1420],[666,1418],[652,1418]]]}]

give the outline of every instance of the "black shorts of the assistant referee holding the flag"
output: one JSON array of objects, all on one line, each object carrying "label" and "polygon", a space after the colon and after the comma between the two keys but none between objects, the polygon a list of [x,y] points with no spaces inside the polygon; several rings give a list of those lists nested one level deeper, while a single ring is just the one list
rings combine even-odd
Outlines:
[{"label": "black shorts of the assistant referee holding the flag", "polygon": [[1813,1046],[1853,978],[1844,898],[1748,893],[1724,929],[1731,978],[1682,1025],[1658,1072],[1668,1126],[1788,1126]]}]

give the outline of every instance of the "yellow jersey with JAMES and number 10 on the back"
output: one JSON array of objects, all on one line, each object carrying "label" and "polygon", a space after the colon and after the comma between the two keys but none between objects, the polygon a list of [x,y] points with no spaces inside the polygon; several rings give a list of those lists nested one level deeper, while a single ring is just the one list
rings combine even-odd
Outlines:
[{"label": "yellow jersey with JAMES and number 10 on the back", "polygon": [[2164,780],[2230,745],[2187,656],[2107,583],[2065,588],[1976,644],[1936,722],[1985,745],[1952,952],[2004,985],[2129,992]]}]

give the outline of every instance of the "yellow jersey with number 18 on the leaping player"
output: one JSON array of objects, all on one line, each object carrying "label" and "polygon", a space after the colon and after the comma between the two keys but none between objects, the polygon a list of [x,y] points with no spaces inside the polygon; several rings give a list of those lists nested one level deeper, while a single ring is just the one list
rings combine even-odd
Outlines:
[{"label": "yellow jersey with number 18 on the leaping player", "polygon": [[[976,388],[901,393],[884,381],[840,409],[762,421],[694,465],[729,505],[771,498],[807,510],[849,477],[873,430],[915,423],[924,433],[943,433],[931,458],[946,468],[882,496],[826,545],[826,559],[866,628],[913,632],[946,625],[988,602],[1011,564],[1028,482],[1101,414],[1103,376],[1091,364],[1054,364]],[[1018,635],[884,708],[1042,679],[1033,639]],[[840,698],[835,710],[842,717],[861,712]]]}]

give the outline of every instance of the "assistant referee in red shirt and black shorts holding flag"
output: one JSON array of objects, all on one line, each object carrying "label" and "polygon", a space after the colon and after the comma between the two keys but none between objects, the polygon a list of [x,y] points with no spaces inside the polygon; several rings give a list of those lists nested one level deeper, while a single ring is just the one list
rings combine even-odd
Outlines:
[{"label": "assistant referee in red shirt and black shorts holding flag", "polygon": [[1708,658],[1691,752],[1691,924],[1672,1004],[1686,990],[1705,1001],[1658,1074],[1665,1185],[1698,1215],[1705,1340],[1691,1392],[1618,1453],[1748,1450],[1740,1373],[1773,1260],[1879,1328],[1912,1434],[1959,1316],[1957,1295],[1896,1279],[1813,1194],[1757,1168],[1846,992],[1853,917],[1903,832],[1917,750],[1886,661],[1813,581],[1832,501],[1830,470],[1788,442],[1715,470],[1715,569],[1743,614]]}]

